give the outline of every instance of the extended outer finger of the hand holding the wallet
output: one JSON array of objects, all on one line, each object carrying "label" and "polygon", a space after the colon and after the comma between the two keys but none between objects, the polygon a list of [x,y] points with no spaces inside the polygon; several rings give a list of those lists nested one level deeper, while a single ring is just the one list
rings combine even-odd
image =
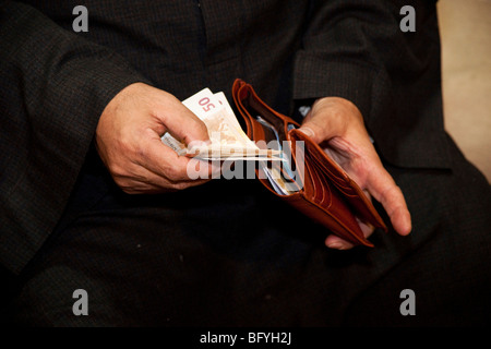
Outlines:
[{"label": "extended outer finger of the hand holding the wallet", "polygon": [[370,194],[382,204],[394,229],[399,234],[407,236],[411,231],[411,217],[403,192],[391,174],[381,166],[370,171],[366,186]]}]

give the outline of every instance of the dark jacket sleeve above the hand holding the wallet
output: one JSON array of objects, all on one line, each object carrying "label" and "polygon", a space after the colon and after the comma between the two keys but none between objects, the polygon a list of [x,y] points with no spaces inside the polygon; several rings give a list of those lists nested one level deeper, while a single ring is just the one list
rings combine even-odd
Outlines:
[{"label": "dark jacket sleeve above the hand holding the wallet", "polygon": [[[385,160],[446,167],[435,2],[312,1],[294,97],[349,99]],[[405,5],[415,10],[416,32],[400,28]]]}]

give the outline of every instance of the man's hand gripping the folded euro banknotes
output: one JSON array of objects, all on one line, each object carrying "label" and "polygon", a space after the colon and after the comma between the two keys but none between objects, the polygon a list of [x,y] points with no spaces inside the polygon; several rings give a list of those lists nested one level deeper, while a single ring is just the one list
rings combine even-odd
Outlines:
[{"label": "man's hand gripping the folded euro banknotes", "polygon": [[[143,83],[122,89],[105,108],[96,147],[115,182],[127,193],[161,193],[202,184],[188,177],[190,161],[161,143],[170,132],[185,144],[208,141],[206,125],[176,97]],[[201,164],[203,178],[212,168]]]}]

